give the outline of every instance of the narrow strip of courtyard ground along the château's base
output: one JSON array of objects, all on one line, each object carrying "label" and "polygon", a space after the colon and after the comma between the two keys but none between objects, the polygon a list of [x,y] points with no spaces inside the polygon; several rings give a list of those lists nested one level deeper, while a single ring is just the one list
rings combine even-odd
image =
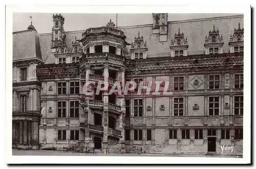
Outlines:
[{"label": "narrow strip of courtyard ground along the ch\u00e2teau's base", "polygon": [[86,154],[63,151],[44,151],[44,150],[17,150],[12,149],[14,156],[170,156],[170,157],[229,157],[242,158],[242,156],[226,156],[226,155],[184,155],[184,154],[138,154],[138,153],[124,153],[124,154]]}]

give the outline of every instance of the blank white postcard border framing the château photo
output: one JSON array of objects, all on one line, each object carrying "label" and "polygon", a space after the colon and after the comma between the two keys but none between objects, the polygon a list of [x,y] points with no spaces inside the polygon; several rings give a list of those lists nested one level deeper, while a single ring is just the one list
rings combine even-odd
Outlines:
[{"label": "blank white postcard border framing the ch\u00e2teau photo", "polygon": [[[235,4],[235,3],[233,3]],[[250,113],[251,113],[251,53],[250,53],[250,6],[210,2],[190,6],[7,6],[6,7],[6,163],[250,163]],[[51,13],[243,13],[244,14],[244,143],[243,158],[204,158],[204,157],[117,157],[117,156],[12,156],[12,12],[51,12]],[[95,158],[96,157],[96,158]]]}]

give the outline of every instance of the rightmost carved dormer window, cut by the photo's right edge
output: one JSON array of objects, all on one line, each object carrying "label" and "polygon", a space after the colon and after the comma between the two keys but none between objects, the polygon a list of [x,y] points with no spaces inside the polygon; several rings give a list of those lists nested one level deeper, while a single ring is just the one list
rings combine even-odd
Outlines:
[{"label": "rightmost carved dormer window, cut by the photo's right edge", "polygon": [[240,23],[238,29],[235,28],[233,35],[230,35],[228,45],[230,53],[244,52],[244,29],[241,29]]}]

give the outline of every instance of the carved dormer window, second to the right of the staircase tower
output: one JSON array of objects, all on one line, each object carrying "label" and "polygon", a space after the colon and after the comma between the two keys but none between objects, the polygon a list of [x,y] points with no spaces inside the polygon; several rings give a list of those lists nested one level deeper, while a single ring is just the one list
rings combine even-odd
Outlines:
[{"label": "carved dormer window, second to the right of the staircase tower", "polygon": [[180,33],[180,29],[178,29],[178,33],[175,33],[174,39],[170,40],[170,56],[187,56],[187,49],[187,38],[184,38],[184,34]]}]

